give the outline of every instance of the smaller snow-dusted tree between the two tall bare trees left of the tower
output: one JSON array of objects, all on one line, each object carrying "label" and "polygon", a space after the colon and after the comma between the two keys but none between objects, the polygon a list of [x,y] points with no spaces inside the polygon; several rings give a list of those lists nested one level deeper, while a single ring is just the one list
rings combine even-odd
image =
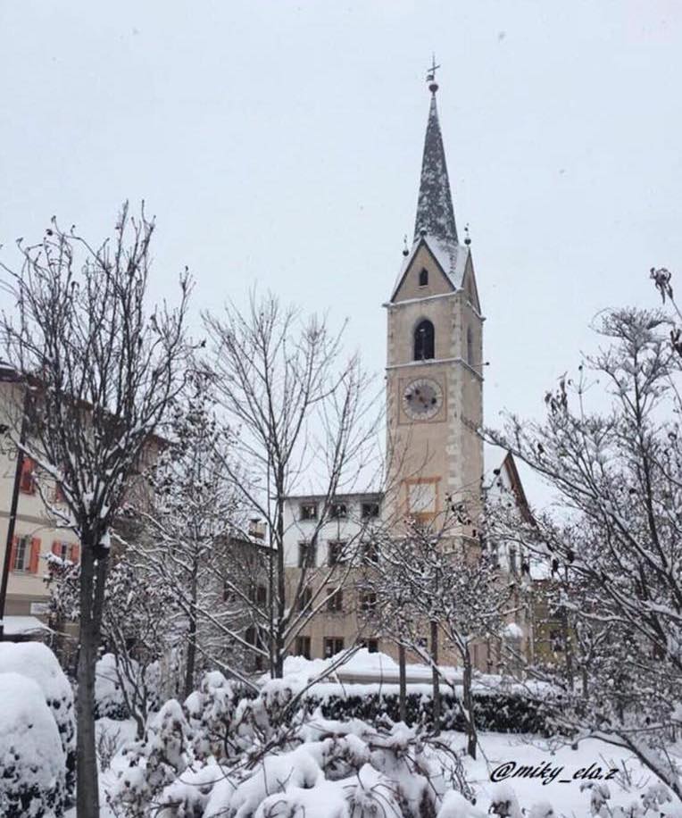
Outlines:
[{"label": "smaller snow-dusted tree between the two tall bare trees left of the tower", "polygon": [[[235,483],[225,472],[233,435],[215,409],[211,384],[195,369],[185,395],[171,409],[165,427],[169,442],[150,474],[154,497],[138,517],[134,545],[154,582],[179,608],[185,697],[195,688],[197,654],[238,675],[234,664],[225,664],[229,651],[212,624],[213,618],[235,619],[226,604],[223,574],[231,569],[230,542],[244,527]],[[232,471],[238,472],[237,464]]]}]

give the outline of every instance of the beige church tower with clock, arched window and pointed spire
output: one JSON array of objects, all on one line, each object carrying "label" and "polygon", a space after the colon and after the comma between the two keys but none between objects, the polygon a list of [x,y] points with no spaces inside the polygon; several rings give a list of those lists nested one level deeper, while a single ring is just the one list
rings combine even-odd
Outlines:
[{"label": "beige church tower with clock, arched window and pointed spire", "polygon": [[428,81],[414,238],[385,305],[387,513],[425,520],[448,497],[474,511],[483,476],[484,318],[470,240],[457,234],[433,72]]}]

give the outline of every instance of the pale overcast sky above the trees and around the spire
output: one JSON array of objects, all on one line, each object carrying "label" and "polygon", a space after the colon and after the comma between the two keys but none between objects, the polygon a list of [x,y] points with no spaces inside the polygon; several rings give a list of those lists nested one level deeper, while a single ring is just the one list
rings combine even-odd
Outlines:
[{"label": "pale overcast sky above the trees and around the spire", "polygon": [[[257,283],[380,373],[428,113],[470,224],[489,424],[536,415],[609,305],[682,265],[682,4],[0,0],[0,242],[158,220],[154,296]],[[198,321],[196,321],[198,324]]]}]

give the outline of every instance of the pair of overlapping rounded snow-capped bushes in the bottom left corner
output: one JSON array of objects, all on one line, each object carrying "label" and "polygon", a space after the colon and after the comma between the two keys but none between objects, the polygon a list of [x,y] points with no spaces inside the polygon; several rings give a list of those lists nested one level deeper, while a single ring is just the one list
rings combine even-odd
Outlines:
[{"label": "pair of overlapping rounded snow-capped bushes in the bottom left corner", "polygon": [[0,814],[62,814],[76,783],[71,685],[37,642],[0,644]]}]

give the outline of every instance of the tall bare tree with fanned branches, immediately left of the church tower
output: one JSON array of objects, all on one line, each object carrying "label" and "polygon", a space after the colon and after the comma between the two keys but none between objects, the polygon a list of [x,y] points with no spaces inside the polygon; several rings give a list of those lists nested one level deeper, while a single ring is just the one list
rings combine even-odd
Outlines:
[{"label": "tall bare tree with fanned branches, immediately left of the church tower", "polygon": [[[362,470],[378,467],[375,396],[357,356],[342,359],[342,333],[331,333],[315,316],[302,320],[273,296],[252,296],[245,315],[232,305],[221,317],[204,317],[220,404],[243,465],[238,474],[234,463],[226,468],[268,531],[267,547],[258,552],[267,594],[254,600],[243,582],[229,580],[230,593],[254,612],[251,644],[243,633],[229,635],[281,676],[296,636],[327,605],[332,583],[343,586],[353,570],[362,534],[324,565],[317,564],[315,540],[335,498],[351,490]],[[324,502],[300,571],[287,572],[285,499],[304,479]]]}]

